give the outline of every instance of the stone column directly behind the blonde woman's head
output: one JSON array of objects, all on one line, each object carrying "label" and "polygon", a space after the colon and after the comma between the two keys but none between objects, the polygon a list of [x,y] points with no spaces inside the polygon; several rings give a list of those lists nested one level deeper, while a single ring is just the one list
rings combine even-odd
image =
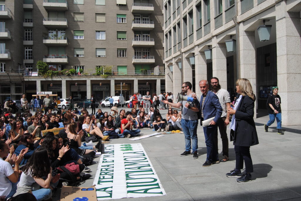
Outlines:
[{"label": "stone column directly behind the blonde woman's head", "polygon": [[[253,93],[256,94],[256,53],[255,33],[244,31],[244,23],[239,24],[239,45],[240,45],[240,78],[250,81]],[[256,118],[256,107],[254,107],[254,118]]]}]

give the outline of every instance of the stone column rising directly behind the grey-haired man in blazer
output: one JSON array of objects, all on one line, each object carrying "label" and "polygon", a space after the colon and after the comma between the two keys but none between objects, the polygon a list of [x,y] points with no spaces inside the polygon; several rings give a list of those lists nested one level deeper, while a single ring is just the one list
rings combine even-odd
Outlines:
[{"label": "stone column rising directly behind the grey-haired man in blazer", "polygon": [[198,97],[202,95],[199,87],[201,80],[207,80],[207,60],[204,52],[199,52],[194,56],[195,62],[195,93]]}]

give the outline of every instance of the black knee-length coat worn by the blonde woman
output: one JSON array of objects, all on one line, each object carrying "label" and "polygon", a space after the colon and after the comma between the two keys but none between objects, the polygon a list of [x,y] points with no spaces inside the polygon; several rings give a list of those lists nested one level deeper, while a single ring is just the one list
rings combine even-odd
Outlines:
[{"label": "black knee-length coat worn by the blonde woman", "polygon": [[243,96],[235,112],[235,131],[231,130],[233,145],[249,147],[259,144],[253,116],[254,101]]}]

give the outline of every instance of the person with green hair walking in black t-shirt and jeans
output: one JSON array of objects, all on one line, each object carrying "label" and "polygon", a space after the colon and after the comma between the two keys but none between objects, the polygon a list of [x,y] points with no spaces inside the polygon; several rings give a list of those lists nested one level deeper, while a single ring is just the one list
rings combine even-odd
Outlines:
[{"label": "person with green hair walking in black t-shirt and jeans", "polygon": [[270,120],[268,120],[268,123],[264,125],[264,131],[268,132],[268,126],[271,126],[276,118],[278,129],[277,133],[280,135],[284,135],[284,132],[281,129],[281,98],[278,95],[278,87],[272,87],[272,91],[273,93],[270,96],[268,96],[267,100],[267,109]]}]

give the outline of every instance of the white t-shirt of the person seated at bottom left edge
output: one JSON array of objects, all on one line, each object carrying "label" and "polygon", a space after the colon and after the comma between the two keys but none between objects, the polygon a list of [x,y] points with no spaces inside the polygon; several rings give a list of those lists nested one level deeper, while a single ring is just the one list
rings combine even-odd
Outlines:
[{"label": "white t-shirt of the person seated at bottom left edge", "polygon": [[11,192],[11,182],[7,177],[13,173],[11,164],[0,158],[0,196],[8,196]]}]

